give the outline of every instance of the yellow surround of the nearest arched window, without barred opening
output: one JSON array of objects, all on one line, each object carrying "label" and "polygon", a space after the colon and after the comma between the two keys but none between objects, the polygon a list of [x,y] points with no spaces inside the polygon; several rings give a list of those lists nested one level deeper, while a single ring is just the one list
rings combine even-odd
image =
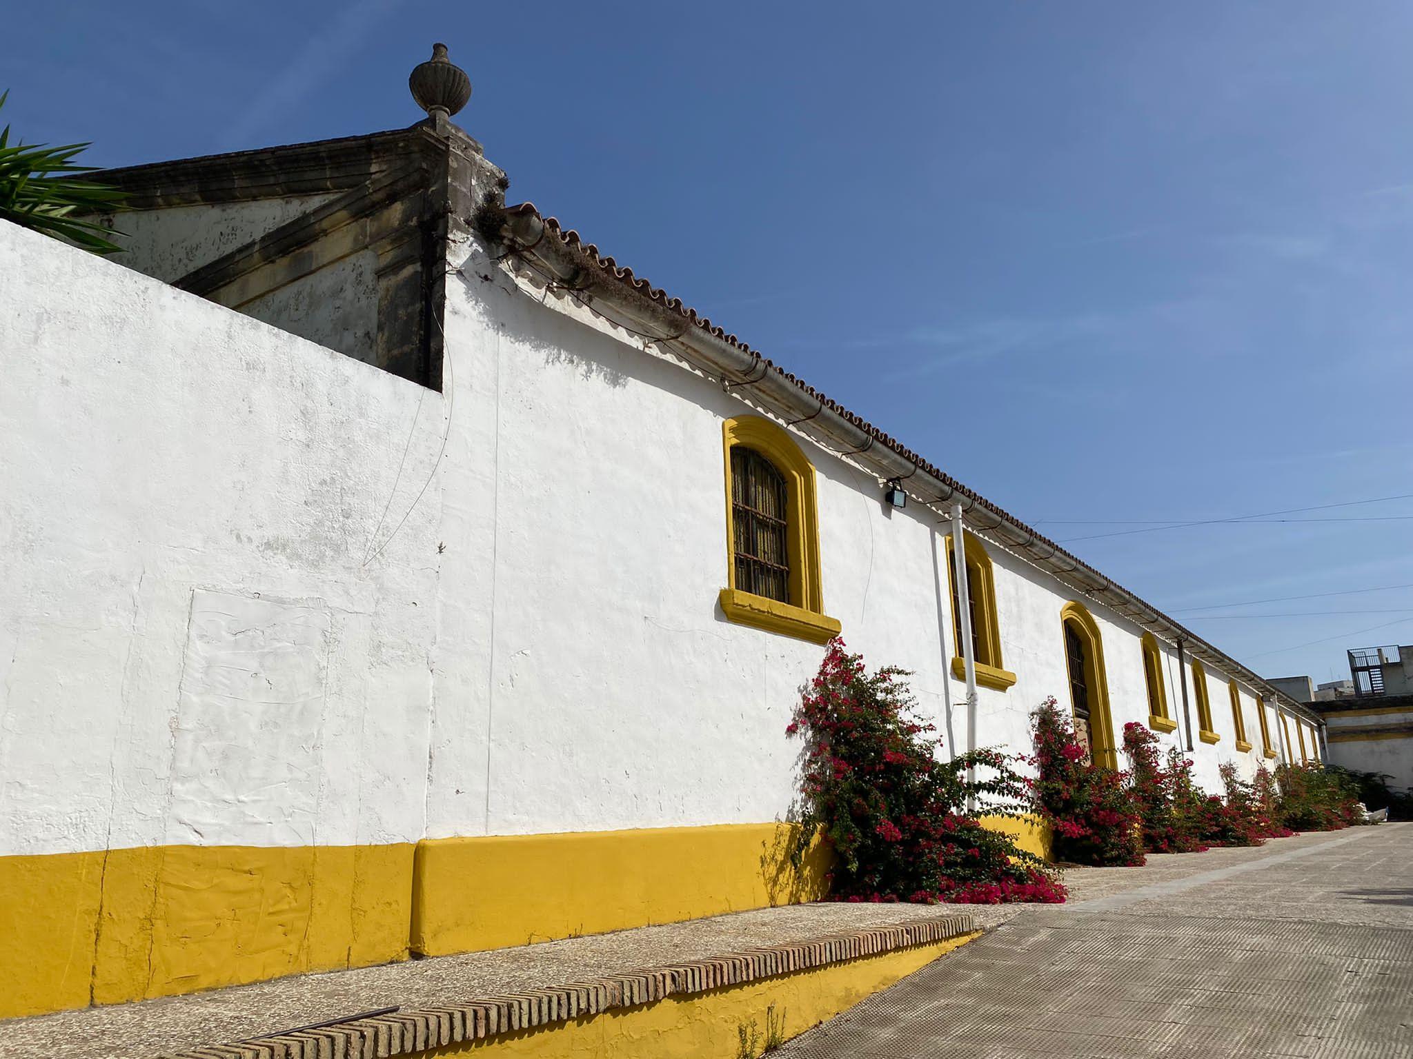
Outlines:
[{"label": "yellow surround of the nearest arched window, without barred opening", "polygon": [[[788,594],[781,603],[736,587],[736,521],[732,517],[731,450],[755,449],[786,480],[786,546],[790,556]],[[822,644],[839,634],[838,620],[824,613],[820,573],[820,501],[814,465],[790,432],[760,415],[722,424],[726,479],[726,587],[716,602],[729,621]]]}]

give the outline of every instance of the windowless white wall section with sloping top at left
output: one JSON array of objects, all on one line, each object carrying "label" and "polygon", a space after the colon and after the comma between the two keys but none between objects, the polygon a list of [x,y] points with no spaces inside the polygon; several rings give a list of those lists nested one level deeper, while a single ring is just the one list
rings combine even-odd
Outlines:
[{"label": "windowless white wall section with sloping top at left", "polygon": [[0,275],[0,853],[415,839],[438,483],[365,556],[441,395],[7,223]]}]

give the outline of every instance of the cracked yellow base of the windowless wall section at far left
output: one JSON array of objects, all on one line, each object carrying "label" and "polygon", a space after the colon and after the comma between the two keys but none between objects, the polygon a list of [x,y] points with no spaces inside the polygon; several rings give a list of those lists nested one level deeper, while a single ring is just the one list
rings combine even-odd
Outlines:
[{"label": "cracked yellow base of the windowless wall section at far left", "polygon": [[407,956],[413,846],[0,857],[0,1018]]}]

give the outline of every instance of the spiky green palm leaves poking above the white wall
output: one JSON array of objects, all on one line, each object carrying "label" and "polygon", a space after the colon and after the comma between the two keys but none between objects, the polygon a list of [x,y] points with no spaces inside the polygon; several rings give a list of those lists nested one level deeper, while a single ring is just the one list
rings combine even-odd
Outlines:
[{"label": "spiky green palm leaves poking above the white wall", "polygon": [[[8,92],[0,93],[0,107]],[[122,206],[123,192],[102,184],[76,179],[93,172],[73,158],[88,144],[47,147],[10,144],[10,126],[0,131],[0,220],[42,232],[95,254],[114,254],[120,246],[106,236],[110,230],[93,215]]]}]

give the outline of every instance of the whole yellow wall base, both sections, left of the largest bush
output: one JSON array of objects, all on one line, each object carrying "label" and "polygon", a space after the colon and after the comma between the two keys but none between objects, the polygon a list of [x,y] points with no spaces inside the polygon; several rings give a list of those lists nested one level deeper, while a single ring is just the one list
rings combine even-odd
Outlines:
[{"label": "whole yellow wall base, both sections, left of the largest bush", "polygon": [[824,895],[786,825],[0,857],[0,1018]]}]

